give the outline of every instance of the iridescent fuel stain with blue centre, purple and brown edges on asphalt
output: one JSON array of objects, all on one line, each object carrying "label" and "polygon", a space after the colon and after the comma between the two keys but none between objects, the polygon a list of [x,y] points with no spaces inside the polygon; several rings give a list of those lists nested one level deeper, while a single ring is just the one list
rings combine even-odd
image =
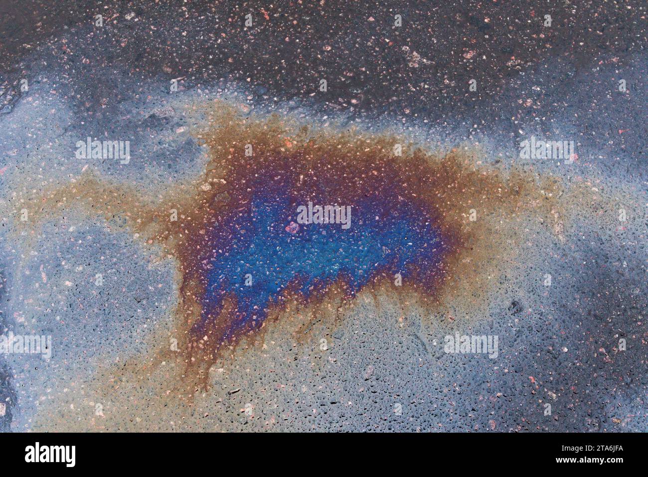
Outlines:
[{"label": "iridescent fuel stain with blue centre, purple and brown edges on asphalt", "polygon": [[[477,167],[467,150],[439,156],[389,134],[246,117],[226,102],[206,116],[195,132],[209,154],[204,174],[161,198],[86,172],[27,200],[32,218],[81,207],[123,220],[176,260],[178,349],[191,386],[207,384],[219,358],[282,312],[337,320],[363,290],[483,306],[489,274],[518,239],[514,222],[534,217],[561,231],[558,181]],[[312,204],[350,207],[349,223],[300,224],[298,208]],[[166,348],[155,361],[177,359]]]}]

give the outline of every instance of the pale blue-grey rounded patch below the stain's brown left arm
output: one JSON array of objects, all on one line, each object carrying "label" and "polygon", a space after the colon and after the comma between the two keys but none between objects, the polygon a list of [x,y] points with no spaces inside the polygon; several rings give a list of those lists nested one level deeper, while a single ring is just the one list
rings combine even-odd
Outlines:
[{"label": "pale blue-grey rounded patch below the stain's brown left arm", "polygon": [[176,300],[172,264],[116,222],[48,222],[27,255],[12,261],[2,309],[12,320],[3,334],[47,337],[51,347],[6,355],[8,373],[25,383],[12,391],[16,430],[29,430],[52,399],[83,393],[98,364],[151,353],[150,338],[168,324]]}]

